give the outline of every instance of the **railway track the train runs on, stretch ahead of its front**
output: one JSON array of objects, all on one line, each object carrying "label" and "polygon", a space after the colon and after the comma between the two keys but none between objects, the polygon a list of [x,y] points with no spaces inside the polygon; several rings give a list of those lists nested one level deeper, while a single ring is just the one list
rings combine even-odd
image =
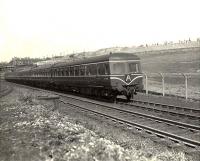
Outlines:
[{"label": "railway track the train runs on, stretch ahead of its front", "polygon": [[121,105],[129,107],[135,111],[146,111],[151,115],[163,117],[171,120],[179,120],[183,123],[200,124],[200,108],[182,107],[176,105],[168,105],[156,102],[148,102],[141,100],[132,100],[131,103],[118,102]]}]

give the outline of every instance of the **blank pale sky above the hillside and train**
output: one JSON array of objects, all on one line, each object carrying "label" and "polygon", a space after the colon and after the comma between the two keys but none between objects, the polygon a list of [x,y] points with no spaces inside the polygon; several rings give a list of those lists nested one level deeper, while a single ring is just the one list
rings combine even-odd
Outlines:
[{"label": "blank pale sky above the hillside and train", "polygon": [[0,62],[200,37],[199,0],[0,0]]}]

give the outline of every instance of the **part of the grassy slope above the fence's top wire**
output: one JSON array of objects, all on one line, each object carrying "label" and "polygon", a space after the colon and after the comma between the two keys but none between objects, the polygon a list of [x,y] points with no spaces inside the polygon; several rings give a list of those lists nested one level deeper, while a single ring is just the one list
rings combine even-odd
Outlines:
[{"label": "part of the grassy slope above the fence's top wire", "polygon": [[138,53],[145,73],[200,72],[200,48],[151,53]]}]

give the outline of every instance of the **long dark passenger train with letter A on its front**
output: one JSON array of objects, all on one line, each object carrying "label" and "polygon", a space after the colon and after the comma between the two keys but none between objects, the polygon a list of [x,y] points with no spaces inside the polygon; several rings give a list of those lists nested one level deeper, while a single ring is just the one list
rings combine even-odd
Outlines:
[{"label": "long dark passenger train with letter A on its front", "polygon": [[13,71],[6,73],[5,79],[112,100],[123,95],[130,101],[134,94],[143,90],[140,58],[123,52]]}]

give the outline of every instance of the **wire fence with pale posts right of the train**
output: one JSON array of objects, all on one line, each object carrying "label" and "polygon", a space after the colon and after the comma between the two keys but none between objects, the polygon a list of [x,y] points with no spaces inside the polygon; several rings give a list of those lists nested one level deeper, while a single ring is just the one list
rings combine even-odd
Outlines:
[{"label": "wire fence with pale posts right of the train", "polygon": [[200,73],[143,73],[149,91],[200,99]]}]

